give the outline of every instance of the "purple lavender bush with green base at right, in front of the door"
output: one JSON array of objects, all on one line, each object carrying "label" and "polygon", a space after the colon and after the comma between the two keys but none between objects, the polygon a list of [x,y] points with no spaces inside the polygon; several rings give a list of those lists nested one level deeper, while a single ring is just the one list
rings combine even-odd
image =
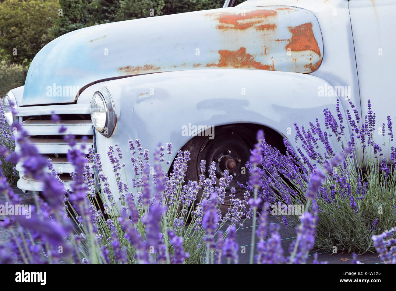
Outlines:
[{"label": "purple lavender bush with green base at right, in front of the door", "polygon": [[[297,152],[286,139],[286,156],[263,141],[259,196],[269,205],[278,202],[304,205],[307,196],[315,196],[318,207],[316,247],[326,251],[373,252],[371,237],[396,224],[396,149],[392,145],[392,121],[388,116],[388,137],[383,124],[381,141],[376,142],[375,113],[370,101],[368,114],[362,119],[352,102],[350,107],[352,112],[346,110],[346,118],[338,100],[336,116],[324,109],[326,129],[317,118],[308,129],[295,123],[295,141],[302,144]],[[352,129],[350,136],[344,131],[348,125]],[[345,152],[346,148],[352,152],[341,161],[337,151]],[[388,154],[384,154],[383,149],[387,149]],[[255,168],[252,164],[249,167]],[[318,178],[314,173],[319,170],[326,173],[322,184],[314,181]],[[316,192],[310,189],[313,183],[318,185]],[[246,188],[252,191],[254,186]],[[312,214],[313,207],[308,209]],[[286,227],[293,228],[288,222],[295,221],[296,217],[286,214],[280,219]],[[304,223],[307,217],[301,221]]]}]

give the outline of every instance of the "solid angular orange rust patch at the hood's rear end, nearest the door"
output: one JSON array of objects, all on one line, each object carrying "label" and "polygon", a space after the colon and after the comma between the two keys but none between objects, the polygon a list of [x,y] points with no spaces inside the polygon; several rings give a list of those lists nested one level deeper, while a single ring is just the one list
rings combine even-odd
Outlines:
[{"label": "solid angular orange rust patch at the hood's rear end, nearest the door", "polygon": [[313,51],[319,56],[320,49],[318,42],[316,42],[314,32],[312,31],[312,23],[304,23],[295,27],[289,27],[292,36],[289,43],[286,45],[286,50],[289,48],[292,51]]}]

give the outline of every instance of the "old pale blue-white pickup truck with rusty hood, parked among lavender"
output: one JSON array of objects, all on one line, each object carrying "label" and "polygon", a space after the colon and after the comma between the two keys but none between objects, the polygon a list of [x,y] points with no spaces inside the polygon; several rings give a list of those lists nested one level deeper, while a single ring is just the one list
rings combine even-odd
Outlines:
[{"label": "old pale blue-white pickup truck with rusty hood, parked among lavender", "polygon": [[[9,123],[23,124],[66,184],[73,167],[52,112],[78,143],[89,137],[114,188],[109,146],[118,143],[128,157],[128,140],[140,139],[151,153],[171,142],[171,159],[190,150],[188,179],[198,179],[200,160],[215,161],[219,177],[225,169],[234,176],[238,196],[257,129],[282,148],[284,137],[294,139],[293,122],[322,121],[323,108],[335,112],[337,99],[342,110],[352,101],[363,116],[371,99],[380,125],[394,116],[393,0],[235,2],[53,40],[34,57],[25,86],[8,92]],[[16,168],[19,188],[41,190]]]}]

